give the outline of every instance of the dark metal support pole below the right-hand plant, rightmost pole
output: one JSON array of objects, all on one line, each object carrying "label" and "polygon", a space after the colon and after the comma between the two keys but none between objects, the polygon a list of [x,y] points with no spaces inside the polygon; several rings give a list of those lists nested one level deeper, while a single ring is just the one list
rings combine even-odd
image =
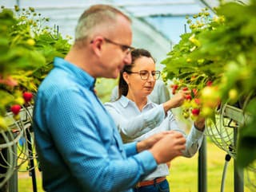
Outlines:
[{"label": "dark metal support pole below the right-hand plant, rightmost pole", "polygon": [[[238,128],[234,128],[234,148],[237,147]],[[236,159],[234,159],[234,192],[243,192],[243,170],[238,169]]]}]

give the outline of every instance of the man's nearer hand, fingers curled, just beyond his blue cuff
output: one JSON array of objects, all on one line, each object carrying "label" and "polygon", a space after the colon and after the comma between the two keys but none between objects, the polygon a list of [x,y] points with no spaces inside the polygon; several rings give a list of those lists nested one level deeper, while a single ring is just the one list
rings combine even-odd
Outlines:
[{"label": "man's nearer hand, fingers curled, just beyond his blue cuff", "polygon": [[170,160],[182,155],[182,150],[186,149],[186,139],[182,133],[169,131],[163,135],[162,139],[150,148],[150,152],[158,164],[167,163]]}]

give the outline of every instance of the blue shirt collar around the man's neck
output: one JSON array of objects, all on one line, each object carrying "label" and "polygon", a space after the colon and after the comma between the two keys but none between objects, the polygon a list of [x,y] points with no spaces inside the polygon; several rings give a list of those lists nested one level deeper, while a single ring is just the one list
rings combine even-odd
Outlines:
[{"label": "blue shirt collar around the man's neck", "polygon": [[73,78],[78,80],[79,84],[83,84],[85,87],[90,88],[90,90],[94,90],[95,79],[93,76],[90,76],[87,72],[78,68],[78,66],[60,58],[54,58],[54,67],[60,68],[65,71],[68,71],[73,75]]}]

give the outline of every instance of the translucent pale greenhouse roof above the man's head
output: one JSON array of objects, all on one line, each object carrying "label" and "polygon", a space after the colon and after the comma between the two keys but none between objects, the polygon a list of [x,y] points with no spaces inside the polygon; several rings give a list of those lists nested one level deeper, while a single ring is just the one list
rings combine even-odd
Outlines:
[{"label": "translucent pale greenhouse roof above the man's head", "polygon": [[80,14],[98,3],[117,6],[128,14],[133,21],[133,45],[150,50],[158,62],[189,30],[186,15],[198,14],[205,7],[214,14],[211,8],[218,6],[218,0],[0,0],[0,6],[34,7],[43,17],[50,18],[47,25],[58,25],[64,36],[74,36]]}]

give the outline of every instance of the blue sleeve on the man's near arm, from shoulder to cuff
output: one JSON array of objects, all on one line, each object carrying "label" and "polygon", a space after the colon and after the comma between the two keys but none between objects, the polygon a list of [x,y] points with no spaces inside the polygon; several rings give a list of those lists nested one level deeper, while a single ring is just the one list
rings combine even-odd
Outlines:
[{"label": "blue sleeve on the man's near arm, from shoulder to cuff", "polygon": [[[133,155],[134,143],[126,147],[128,158],[120,155],[116,144],[108,146],[108,139],[112,138],[100,136],[104,127],[98,127],[91,105],[83,96],[68,90],[50,102],[47,124],[54,146],[82,191],[128,190],[153,172],[157,163],[150,151]],[[110,151],[115,151],[112,158]]]}]

